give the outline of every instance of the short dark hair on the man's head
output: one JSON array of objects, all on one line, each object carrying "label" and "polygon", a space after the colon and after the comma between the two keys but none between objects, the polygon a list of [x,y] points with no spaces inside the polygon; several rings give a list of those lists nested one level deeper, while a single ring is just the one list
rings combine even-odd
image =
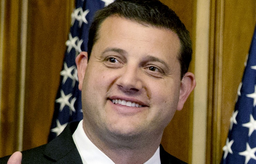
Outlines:
[{"label": "short dark hair on the man's head", "polygon": [[111,15],[175,32],[181,43],[178,56],[181,65],[181,78],[188,71],[192,55],[189,32],[175,12],[158,0],[116,0],[97,11],[89,30],[88,59],[94,43],[99,39],[98,31],[101,23]]}]

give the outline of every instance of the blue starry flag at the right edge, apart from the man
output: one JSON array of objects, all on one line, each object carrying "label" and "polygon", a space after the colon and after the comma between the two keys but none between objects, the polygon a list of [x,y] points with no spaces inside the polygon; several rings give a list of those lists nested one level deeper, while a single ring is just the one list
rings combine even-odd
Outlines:
[{"label": "blue starry flag at the right edge, apart from the man", "polygon": [[256,27],[247,58],[238,100],[230,118],[222,164],[256,163]]}]

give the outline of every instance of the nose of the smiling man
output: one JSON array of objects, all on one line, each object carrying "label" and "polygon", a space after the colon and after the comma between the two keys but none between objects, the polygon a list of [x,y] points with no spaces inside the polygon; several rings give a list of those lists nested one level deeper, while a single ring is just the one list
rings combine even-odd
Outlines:
[{"label": "nose of the smiling man", "polygon": [[140,69],[136,67],[123,68],[121,75],[116,81],[120,90],[126,93],[136,93],[143,87],[142,79],[140,77]]}]

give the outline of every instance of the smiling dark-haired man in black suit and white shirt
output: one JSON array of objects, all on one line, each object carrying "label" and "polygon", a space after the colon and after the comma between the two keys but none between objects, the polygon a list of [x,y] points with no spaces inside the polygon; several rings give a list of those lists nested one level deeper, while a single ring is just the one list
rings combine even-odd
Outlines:
[{"label": "smiling dark-haired man in black suit and white shirt", "polygon": [[[88,53],[76,58],[83,121],[23,151],[22,162],[184,163],[160,142],[196,85],[191,53],[189,32],[167,6],[116,0],[96,14]],[[12,157],[20,163],[20,153]]]}]

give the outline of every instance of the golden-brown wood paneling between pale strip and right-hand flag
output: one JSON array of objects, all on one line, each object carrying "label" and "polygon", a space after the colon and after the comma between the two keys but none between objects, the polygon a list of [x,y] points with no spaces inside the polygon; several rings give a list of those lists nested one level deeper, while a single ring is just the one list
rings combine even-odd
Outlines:
[{"label": "golden-brown wood paneling between pale strip and right-hand flag", "polygon": [[255,20],[255,0],[212,1],[206,163],[220,163]]}]

